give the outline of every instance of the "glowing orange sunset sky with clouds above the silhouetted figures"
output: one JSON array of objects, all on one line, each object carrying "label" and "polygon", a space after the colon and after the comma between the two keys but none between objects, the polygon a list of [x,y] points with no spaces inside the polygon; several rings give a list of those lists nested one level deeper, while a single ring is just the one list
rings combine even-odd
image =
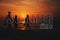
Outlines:
[{"label": "glowing orange sunset sky with clouds above the silhouetted figures", "polygon": [[0,0],[0,17],[5,17],[8,11],[20,18],[51,12],[60,8],[60,0]]}]

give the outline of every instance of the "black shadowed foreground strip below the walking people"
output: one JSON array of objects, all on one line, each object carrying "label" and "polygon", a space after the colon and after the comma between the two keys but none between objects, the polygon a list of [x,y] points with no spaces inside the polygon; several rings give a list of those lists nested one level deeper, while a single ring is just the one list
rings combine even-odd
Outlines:
[{"label": "black shadowed foreground strip below the walking people", "polygon": [[0,40],[58,40],[60,31],[56,30],[4,30],[0,31]]}]

